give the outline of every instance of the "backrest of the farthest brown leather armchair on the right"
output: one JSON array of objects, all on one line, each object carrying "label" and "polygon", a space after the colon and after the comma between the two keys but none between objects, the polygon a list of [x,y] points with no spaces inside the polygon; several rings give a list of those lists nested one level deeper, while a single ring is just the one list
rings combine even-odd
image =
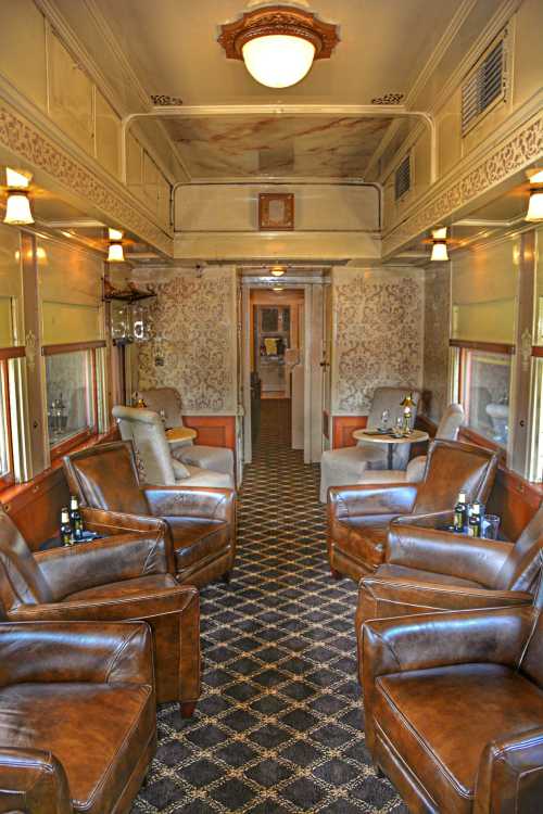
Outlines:
[{"label": "backrest of the farthest brown leather armchair on the right", "polygon": [[497,460],[496,453],[480,446],[433,441],[413,513],[452,510],[460,491],[469,503],[485,504],[494,484]]}]

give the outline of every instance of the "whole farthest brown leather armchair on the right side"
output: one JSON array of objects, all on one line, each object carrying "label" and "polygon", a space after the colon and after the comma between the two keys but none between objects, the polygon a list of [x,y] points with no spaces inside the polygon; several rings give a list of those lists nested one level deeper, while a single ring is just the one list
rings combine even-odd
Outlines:
[{"label": "whole farthest brown leather armchair on the right side", "polygon": [[338,486],[328,492],[328,558],[332,576],[359,580],[382,563],[389,523],[437,526],[452,521],[458,492],[487,503],[497,455],[471,444],[432,442],[420,483]]}]

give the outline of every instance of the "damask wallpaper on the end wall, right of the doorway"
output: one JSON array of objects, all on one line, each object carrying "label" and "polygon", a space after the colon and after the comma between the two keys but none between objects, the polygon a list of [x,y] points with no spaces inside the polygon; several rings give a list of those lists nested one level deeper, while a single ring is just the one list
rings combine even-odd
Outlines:
[{"label": "damask wallpaper on the end wall, right of the doorway", "polygon": [[424,277],[336,268],[334,415],[366,415],[377,386],[422,383]]}]

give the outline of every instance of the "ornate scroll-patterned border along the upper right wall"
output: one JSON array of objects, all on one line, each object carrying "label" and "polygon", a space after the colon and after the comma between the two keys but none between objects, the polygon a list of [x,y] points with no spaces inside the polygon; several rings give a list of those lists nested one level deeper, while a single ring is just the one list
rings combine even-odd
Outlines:
[{"label": "ornate scroll-patterned border along the upper right wall", "polygon": [[540,111],[383,238],[383,258],[543,156]]}]

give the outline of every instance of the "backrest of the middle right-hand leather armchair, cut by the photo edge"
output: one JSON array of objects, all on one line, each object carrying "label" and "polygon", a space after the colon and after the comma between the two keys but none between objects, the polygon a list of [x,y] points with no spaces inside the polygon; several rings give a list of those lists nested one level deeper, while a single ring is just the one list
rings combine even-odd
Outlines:
[{"label": "backrest of the middle right-hand leather armchair, cut by the photo edge", "polygon": [[533,592],[543,565],[543,507],[516,542],[496,577],[497,590]]}]

